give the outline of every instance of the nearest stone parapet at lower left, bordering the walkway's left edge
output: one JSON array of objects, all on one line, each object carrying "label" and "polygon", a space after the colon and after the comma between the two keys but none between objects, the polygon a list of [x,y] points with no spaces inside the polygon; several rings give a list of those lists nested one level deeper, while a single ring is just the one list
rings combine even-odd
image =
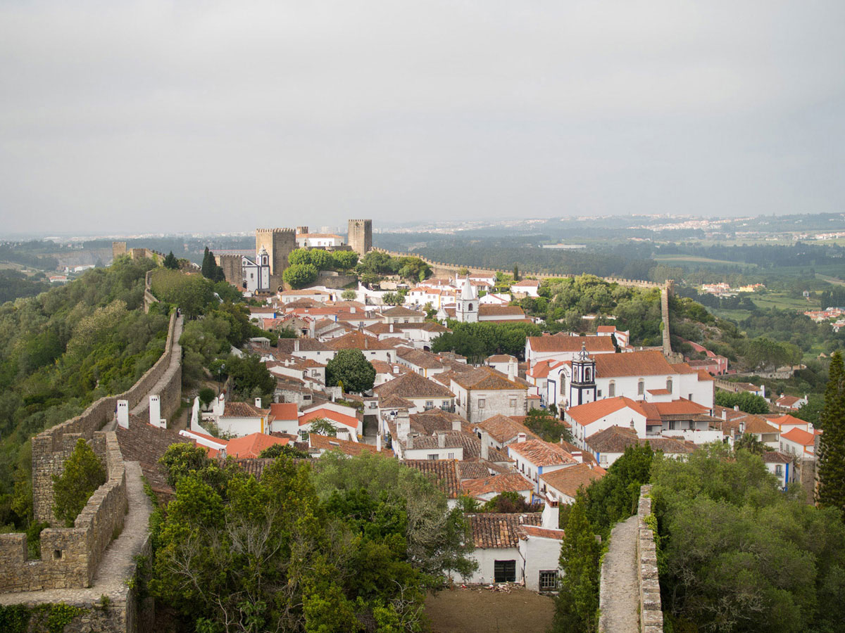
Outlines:
[{"label": "nearest stone parapet at lower left, bordering the walkway's left edge", "polygon": [[41,560],[26,560],[25,534],[0,534],[0,592],[90,587],[103,552],[123,528],[127,511],[126,470],[117,436],[113,432],[101,436],[97,444],[105,447],[108,479],[91,495],[74,527],[48,527],[41,532]]}]

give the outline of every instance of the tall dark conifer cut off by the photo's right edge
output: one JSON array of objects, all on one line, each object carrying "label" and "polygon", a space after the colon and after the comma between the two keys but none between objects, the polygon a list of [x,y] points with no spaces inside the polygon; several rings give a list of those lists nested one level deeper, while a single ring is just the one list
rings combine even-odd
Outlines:
[{"label": "tall dark conifer cut off by the photo's right edge", "polygon": [[818,478],[816,500],[820,506],[839,508],[845,517],[845,369],[842,353],[831,356],[825,407],[819,414]]}]

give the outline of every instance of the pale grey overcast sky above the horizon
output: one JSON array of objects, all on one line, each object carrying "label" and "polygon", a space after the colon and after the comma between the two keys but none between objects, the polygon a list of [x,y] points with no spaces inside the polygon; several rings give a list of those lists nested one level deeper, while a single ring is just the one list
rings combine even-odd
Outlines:
[{"label": "pale grey overcast sky above the horizon", "polygon": [[842,0],[0,3],[0,227],[845,210]]}]

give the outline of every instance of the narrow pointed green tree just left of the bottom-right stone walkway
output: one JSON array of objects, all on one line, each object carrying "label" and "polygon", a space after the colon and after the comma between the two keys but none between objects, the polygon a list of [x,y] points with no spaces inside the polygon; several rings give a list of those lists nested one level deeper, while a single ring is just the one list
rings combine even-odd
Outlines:
[{"label": "narrow pointed green tree just left of the bottom-right stone walkway", "polygon": [[586,518],[585,500],[578,495],[570,508],[560,546],[560,580],[552,631],[592,633],[598,628],[599,560],[602,546]]}]

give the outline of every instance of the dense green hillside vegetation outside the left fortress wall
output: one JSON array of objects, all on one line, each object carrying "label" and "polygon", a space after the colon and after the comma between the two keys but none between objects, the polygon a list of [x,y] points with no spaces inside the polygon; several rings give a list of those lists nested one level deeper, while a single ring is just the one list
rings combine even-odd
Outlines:
[{"label": "dense green hillside vegetation outside the left fortress wall", "polygon": [[131,387],[164,351],[165,314],[144,314],[149,260],[122,257],[0,306],[0,526],[31,519],[31,436]]}]

